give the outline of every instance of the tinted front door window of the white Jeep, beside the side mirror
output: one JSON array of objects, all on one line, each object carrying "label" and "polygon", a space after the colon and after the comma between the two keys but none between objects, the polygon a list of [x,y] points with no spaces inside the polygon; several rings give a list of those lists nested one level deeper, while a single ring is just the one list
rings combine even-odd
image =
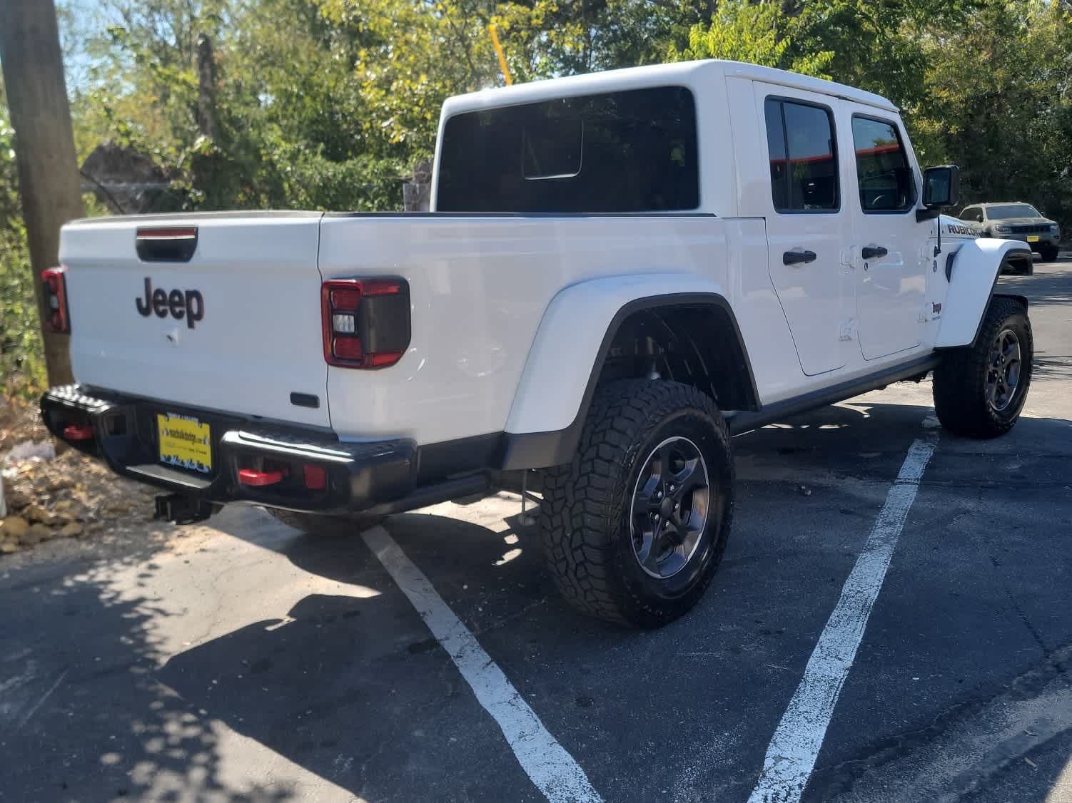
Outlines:
[{"label": "tinted front door window of the white Jeep, beside the side mirror", "polygon": [[915,207],[915,179],[897,127],[853,115],[852,143],[864,214],[906,212]]}]

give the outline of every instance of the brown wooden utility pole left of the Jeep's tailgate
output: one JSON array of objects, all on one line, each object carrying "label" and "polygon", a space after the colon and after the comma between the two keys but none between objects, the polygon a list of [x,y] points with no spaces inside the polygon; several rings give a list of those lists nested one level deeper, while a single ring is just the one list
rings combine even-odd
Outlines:
[{"label": "brown wooden utility pole left of the Jeep's tailgate", "polygon": [[[0,0],[0,62],[42,315],[41,271],[59,264],[60,226],[85,214],[53,0]],[[49,384],[71,382],[69,336],[42,334]]]}]

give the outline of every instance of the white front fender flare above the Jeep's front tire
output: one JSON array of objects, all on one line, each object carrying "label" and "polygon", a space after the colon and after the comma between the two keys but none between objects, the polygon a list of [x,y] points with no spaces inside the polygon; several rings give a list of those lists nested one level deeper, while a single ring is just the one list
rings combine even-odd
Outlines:
[{"label": "white front fender flare above the Jeep's front tire", "polygon": [[942,304],[935,348],[970,346],[976,342],[983,314],[994,294],[1002,266],[1010,255],[1030,249],[1018,240],[968,240],[953,256],[949,290]]}]

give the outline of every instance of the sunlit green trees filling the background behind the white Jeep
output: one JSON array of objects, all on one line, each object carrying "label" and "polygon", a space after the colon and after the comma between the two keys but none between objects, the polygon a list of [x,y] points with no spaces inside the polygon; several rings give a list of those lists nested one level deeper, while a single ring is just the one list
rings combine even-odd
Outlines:
[{"label": "sunlit green trees filling the background behind the white Jeep", "polygon": [[[61,9],[86,156],[149,155],[172,209],[388,210],[435,146],[438,109],[504,84],[728,58],[830,77],[898,104],[966,200],[1026,200],[1072,228],[1068,0],[100,0]],[[199,39],[212,47],[208,104]],[[203,63],[204,67],[205,64]],[[0,117],[0,358],[40,370]]]}]

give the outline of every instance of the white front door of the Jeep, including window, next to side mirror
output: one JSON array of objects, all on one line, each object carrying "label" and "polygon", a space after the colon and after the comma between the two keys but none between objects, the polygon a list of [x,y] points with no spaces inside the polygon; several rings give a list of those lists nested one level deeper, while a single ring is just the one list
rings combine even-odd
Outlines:
[{"label": "white front door of the Jeep, including window, next to side mirror", "polygon": [[854,151],[855,192],[846,206],[852,213],[860,349],[865,360],[875,360],[920,344],[933,256],[924,253],[929,228],[915,219],[919,181],[900,123],[851,103],[842,105],[842,113]]}]

